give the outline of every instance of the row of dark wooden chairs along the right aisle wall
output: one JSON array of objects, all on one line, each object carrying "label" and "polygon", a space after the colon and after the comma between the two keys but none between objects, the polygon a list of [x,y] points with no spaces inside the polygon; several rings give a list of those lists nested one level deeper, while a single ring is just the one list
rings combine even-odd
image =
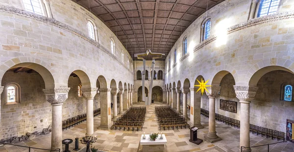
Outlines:
[{"label": "row of dark wooden chairs along the right aisle wall", "polygon": [[[200,113],[206,117],[209,116],[209,111],[202,109],[200,110]],[[240,121],[233,119],[233,118],[229,118],[220,114],[215,114],[216,116],[216,120],[221,121],[225,124],[234,126],[234,127],[240,127]],[[277,131],[277,130],[273,130],[273,129],[269,129],[266,127],[259,127],[256,125],[252,125],[249,124],[249,129],[252,132],[252,134],[256,133],[257,135],[261,134],[261,136],[266,136],[267,138],[271,137],[271,139],[277,139],[277,140],[285,140],[285,132],[282,131]]]}]

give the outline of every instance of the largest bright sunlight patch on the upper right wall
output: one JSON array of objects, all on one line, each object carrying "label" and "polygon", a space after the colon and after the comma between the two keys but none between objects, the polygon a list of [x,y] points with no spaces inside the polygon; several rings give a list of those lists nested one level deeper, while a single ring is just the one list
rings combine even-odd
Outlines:
[{"label": "largest bright sunlight patch on the upper right wall", "polygon": [[230,25],[230,19],[226,18],[223,19],[221,22],[219,22],[216,25],[216,47],[220,47],[222,45],[225,45],[227,43],[227,28]]}]

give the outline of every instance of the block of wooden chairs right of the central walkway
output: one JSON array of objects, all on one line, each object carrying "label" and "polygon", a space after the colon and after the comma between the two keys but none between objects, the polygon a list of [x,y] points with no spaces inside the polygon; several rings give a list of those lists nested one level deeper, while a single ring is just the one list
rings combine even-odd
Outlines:
[{"label": "block of wooden chairs right of the central walkway", "polygon": [[170,106],[156,106],[155,114],[160,130],[161,128],[165,130],[166,128],[179,129],[183,127],[190,127],[190,125],[187,123],[187,120]]}]

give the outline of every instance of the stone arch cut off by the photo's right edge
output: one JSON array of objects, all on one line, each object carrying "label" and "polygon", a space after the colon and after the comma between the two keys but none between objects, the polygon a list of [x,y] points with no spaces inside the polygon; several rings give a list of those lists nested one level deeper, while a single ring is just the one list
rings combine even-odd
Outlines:
[{"label": "stone arch cut off by the photo's right edge", "polygon": [[264,76],[265,74],[271,72],[271,71],[276,71],[276,70],[282,70],[282,71],[287,71],[290,72],[292,74],[294,74],[291,70],[285,68],[285,67],[281,67],[281,66],[267,66],[264,68],[259,69],[258,71],[256,71],[250,78],[248,85],[249,86],[257,86],[257,82],[259,81],[259,79]]}]

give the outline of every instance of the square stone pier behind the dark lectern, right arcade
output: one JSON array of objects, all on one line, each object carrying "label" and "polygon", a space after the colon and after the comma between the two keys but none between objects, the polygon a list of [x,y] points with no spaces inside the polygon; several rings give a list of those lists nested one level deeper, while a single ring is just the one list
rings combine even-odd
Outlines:
[{"label": "square stone pier behind the dark lectern, right arcade", "polygon": [[190,125],[201,129],[204,128],[200,122],[201,93],[196,91],[197,88],[190,88]]}]

